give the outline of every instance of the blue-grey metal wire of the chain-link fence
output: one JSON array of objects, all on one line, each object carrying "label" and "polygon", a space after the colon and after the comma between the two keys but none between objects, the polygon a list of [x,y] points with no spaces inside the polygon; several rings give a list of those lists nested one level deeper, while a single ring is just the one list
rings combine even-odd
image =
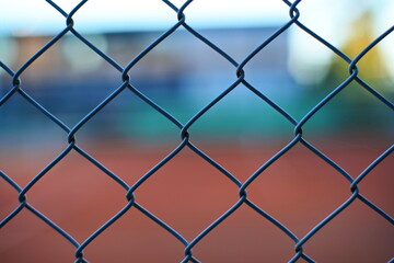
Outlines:
[{"label": "blue-grey metal wire of the chain-link fence", "polygon": [[[11,96],[20,95],[27,103],[32,104],[44,114],[48,119],[50,119],[54,125],[59,126],[67,136],[68,146],[54,159],[51,160],[37,175],[35,175],[24,187],[18,185],[11,176],[5,174],[0,170],[0,176],[10,184],[19,194],[18,199],[20,205],[14,208],[12,213],[10,213],[2,221],[0,221],[0,228],[5,226],[10,220],[12,220],[22,209],[27,209],[33,213],[36,217],[42,219],[45,224],[47,224],[51,229],[61,235],[65,239],[67,239],[73,247],[76,247],[76,263],[88,262],[88,260],[83,255],[83,250],[103,231],[105,231],[112,224],[118,220],[123,215],[125,215],[129,209],[135,208],[139,210],[141,214],[147,216],[150,220],[157,222],[160,227],[165,229],[169,233],[171,233],[175,239],[177,239],[184,247],[184,259],[182,262],[199,262],[198,259],[193,254],[193,248],[198,244],[211,230],[213,230],[218,225],[222,224],[231,214],[235,213],[241,206],[248,206],[251,209],[256,211],[263,218],[271,222],[278,229],[280,229],[286,236],[288,236],[294,242],[294,255],[289,259],[289,262],[297,262],[299,259],[303,259],[306,262],[315,262],[312,258],[310,258],[303,249],[303,244],[305,244],[320,229],[325,227],[334,217],[338,216],[344,209],[346,209],[355,199],[360,199],[363,204],[374,210],[378,215],[380,215],[383,219],[387,220],[390,224],[394,225],[394,219],[389,214],[386,214],[383,209],[374,205],[372,202],[367,199],[363,195],[361,195],[358,184],[376,167],[381,161],[383,161],[387,156],[390,156],[394,150],[394,145],[389,147],[384,152],[381,153],[370,165],[362,171],[357,178],[350,176],[343,168],[340,168],[337,163],[331,160],[327,156],[325,156],[322,151],[320,151],[316,147],[305,140],[302,136],[302,127],[306,122],[311,119],[313,115],[315,115],[324,105],[333,100],[339,92],[346,89],[349,83],[356,81],[368,92],[373,94],[379,101],[381,101],[385,106],[391,110],[394,110],[394,104],[390,102],[385,96],[380,94],[375,89],[364,82],[358,76],[357,62],[362,59],[362,57],[375,45],[378,45],[382,39],[384,39],[387,35],[390,35],[394,26],[387,28],[382,35],[376,37],[372,43],[370,43],[363,50],[361,50],[354,59],[347,57],[343,52],[332,45],[329,42],[325,41],[323,37],[314,33],[312,30],[308,28],[304,24],[299,21],[301,15],[298,10],[298,4],[301,0],[297,0],[294,2],[290,2],[288,0],[282,0],[285,4],[289,7],[289,21],[280,26],[274,34],[271,34],[267,39],[265,39],[257,48],[251,52],[242,61],[237,62],[233,59],[229,54],[227,54],[222,48],[218,45],[210,42],[208,38],[202,36],[195,28],[189,26],[186,23],[185,9],[192,3],[193,0],[186,1],[181,8],[177,8],[169,0],[163,0],[163,2],[171,8],[177,16],[177,23],[171,26],[167,31],[165,31],[160,37],[158,37],[154,42],[152,42],[147,48],[144,48],[138,56],[136,56],[126,67],[121,67],[114,59],[103,53],[100,48],[97,48],[94,44],[89,42],[83,35],[81,35],[73,26],[74,22],[72,16],[79,11],[80,8],[83,8],[84,3],[88,0],[83,0],[79,2],[70,13],[63,11],[56,2],[51,0],[46,0],[57,12],[59,12],[66,19],[66,27],[60,31],[54,38],[51,38],[47,44],[45,44],[36,54],[34,54],[27,61],[25,61],[16,71],[13,71],[5,64],[0,61],[0,67],[12,77],[11,89],[1,98],[0,106],[8,102]],[[338,87],[336,87],[332,92],[329,92],[323,100],[321,100],[309,113],[306,113],[300,121],[293,118],[288,112],[281,108],[278,104],[276,104],[273,100],[267,98],[264,93],[253,87],[250,82],[247,82],[245,78],[244,67],[248,64],[248,61],[256,56],[262,49],[264,49],[268,45],[275,45],[275,39],[287,31],[291,26],[298,26],[308,33],[311,37],[315,38],[317,42],[325,45],[328,49],[331,49],[336,56],[341,58],[345,62],[347,62],[349,69],[349,77],[343,81]],[[205,45],[210,47],[217,54],[222,56],[229,64],[234,67],[234,73],[236,80],[229,85],[221,94],[213,98],[205,107],[198,111],[193,117],[190,117],[185,124],[181,123],[174,116],[172,116],[169,112],[166,112],[163,107],[158,105],[154,101],[149,99],[143,92],[137,89],[136,85],[131,83],[132,78],[129,77],[128,72],[132,67],[135,67],[141,58],[143,58],[147,54],[149,54],[155,46],[165,41],[171,34],[177,31],[179,27],[184,27],[187,32],[189,32],[197,39],[202,42]],[[106,62],[108,62],[114,69],[119,71],[119,87],[115,89],[112,94],[109,94],[105,100],[103,100],[93,111],[91,111],[88,115],[80,119],[80,122],[73,126],[67,126],[61,119],[56,117],[53,113],[50,113],[47,108],[40,105],[34,98],[32,98],[26,91],[23,90],[22,85],[22,76],[23,72],[44,53],[46,53],[55,43],[57,43],[60,38],[62,38],[66,34],[73,34],[78,39],[80,39],[83,44],[90,47],[93,52],[95,52],[99,56],[103,58]],[[276,155],[274,155],[268,161],[266,161],[260,168],[258,168],[254,173],[250,175],[250,178],[244,182],[240,182],[236,176],[231,174],[225,170],[222,165],[220,165],[217,161],[215,161],[211,157],[205,153],[202,150],[198,149],[190,140],[190,135],[188,133],[189,128],[193,124],[199,119],[205,113],[207,113],[212,106],[215,106],[219,101],[221,101],[224,96],[231,93],[234,89],[236,89],[240,84],[243,84],[252,91],[256,96],[262,100],[262,103],[268,104],[273,110],[277,111],[285,119],[287,119],[294,127],[294,138],[289,141],[282,149],[280,149]],[[163,115],[169,119],[172,124],[174,124],[179,129],[181,141],[179,145],[169,153],[164,159],[158,162],[154,167],[151,168],[146,174],[143,174],[134,185],[128,185],[124,182],[119,176],[117,176],[114,172],[107,169],[104,164],[100,163],[96,159],[90,156],[86,151],[84,151],[78,144],[76,139],[76,135],[78,130],[83,127],[90,119],[92,119],[97,113],[100,113],[107,104],[112,103],[112,101],[121,95],[124,92],[131,91],[137,98],[147,103],[149,106],[154,108],[158,113]],[[1,108],[0,108],[1,110]],[[264,209],[255,205],[247,197],[247,187],[256,180],[258,176],[264,173],[264,171],[280,159],[286,152],[291,150],[296,145],[302,145],[308,150],[316,155],[323,161],[333,167],[339,176],[344,176],[347,181],[349,181],[350,185],[350,195],[347,201],[345,201],[340,206],[338,206],[334,211],[332,211],[328,216],[326,216],[320,224],[317,224],[313,229],[311,229],[304,237],[297,237],[292,233],[285,225],[275,219]],[[205,230],[202,230],[199,235],[197,235],[192,241],[187,241],[181,233],[166,225],[163,220],[158,218],[155,215],[150,213],[148,209],[142,207],[136,202],[135,192],[138,187],[143,185],[143,183],[149,180],[151,176],[154,176],[155,172],[160,170],[163,165],[169,163],[172,158],[178,155],[184,148],[189,148],[193,150],[198,157],[208,162],[219,172],[221,172],[227,179],[229,179],[232,183],[236,185],[239,188],[240,198],[219,218],[212,221]],[[57,226],[47,216],[38,211],[34,206],[27,203],[27,193],[28,191],[43,178],[47,174],[47,172],[54,168],[58,162],[60,162],[71,151],[78,152],[80,156],[85,158],[88,161],[97,167],[101,171],[107,174],[112,180],[118,183],[124,190],[127,199],[127,205],[120,209],[116,215],[113,216],[108,221],[106,221],[102,227],[100,227],[94,233],[92,233],[88,239],[82,242],[78,242],[74,240],[72,236],[66,232],[61,227]],[[394,262],[394,259],[389,262]]]}]

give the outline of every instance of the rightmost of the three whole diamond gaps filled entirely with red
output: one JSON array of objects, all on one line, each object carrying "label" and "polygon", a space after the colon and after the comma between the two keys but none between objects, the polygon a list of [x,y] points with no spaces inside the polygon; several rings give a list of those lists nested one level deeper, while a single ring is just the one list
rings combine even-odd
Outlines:
[{"label": "rightmost of the three whole diamond gaps filled entirely with red", "polygon": [[248,198],[300,237],[350,196],[350,183],[302,145],[263,171]]}]

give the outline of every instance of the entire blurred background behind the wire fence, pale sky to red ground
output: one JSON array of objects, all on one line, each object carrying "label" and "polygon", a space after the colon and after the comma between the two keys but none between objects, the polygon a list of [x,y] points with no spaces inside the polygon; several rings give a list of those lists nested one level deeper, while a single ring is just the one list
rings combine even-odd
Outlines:
[{"label": "entire blurred background behind the wire fence, pale sky to red ground", "polygon": [[[45,1],[32,2],[0,0],[0,61],[14,72],[65,28],[65,18],[54,8]],[[55,2],[67,12],[78,3]],[[109,8],[88,2],[76,13],[74,28],[126,67],[177,22],[176,13],[161,1],[137,2],[127,8],[121,1],[112,1]],[[250,0],[240,7],[235,0],[225,4],[196,0],[185,10],[186,22],[240,64],[289,21],[287,4],[262,2]],[[389,0],[380,4],[335,0],[329,7],[324,0],[310,2],[299,4],[300,21],[351,59],[394,22],[394,4]],[[391,103],[393,44],[392,33],[357,64],[358,76]],[[297,121],[349,76],[346,61],[296,25],[251,59],[244,71],[255,89]],[[233,65],[185,30],[169,36],[128,73],[132,87],[183,125],[236,80]],[[119,71],[71,33],[20,78],[21,88],[70,128],[123,83]],[[0,67],[0,100],[12,87],[12,77]],[[394,115],[351,82],[302,129],[305,140],[355,179],[392,146]],[[198,118],[188,134],[196,147],[245,182],[294,138],[294,125],[240,84]],[[132,185],[182,139],[176,125],[125,90],[77,132],[76,141]],[[21,187],[67,147],[68,134],[21,94],[0,106],[0,170]],[[360,193],[391,217],[393,171],[391,155],[359,183]],[[34,184],[27,202],[82,243],[127,204],[125,195],[114,180],[72,150]],[[239,201],[239,188],[186,147],[140,185],[135,196],[189,242]],[[299,239],[350,196],[349,181],[301,144],[247,187],[247,197]],[[19,204],[18,192],[0,178],[0,221]],[[316,262],[374,263],[392,259],[393,248],[393,225],[356,199],[314,235],[303,251]],[[131,207],[85,248],[84,256],[94,263],[172,263],[183,260],[184,249]],[[25,208],[0,229],[3,263],[73,262],[74,251]],[[294,242],[244,204],[198,242],[193,253],[201,262],[287,262],[294,255]]]}]

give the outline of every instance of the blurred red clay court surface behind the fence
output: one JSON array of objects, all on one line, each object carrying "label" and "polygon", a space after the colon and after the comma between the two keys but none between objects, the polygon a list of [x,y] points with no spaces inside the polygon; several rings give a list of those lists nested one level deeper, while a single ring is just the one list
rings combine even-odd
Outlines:
[{"label": "blurred red clay court surface behind the fence", "polygon": [[[140,148],[132,144],[84,147],[129,185],[169,153],[176,144]],[[206,153],[244,182],[283,144],[200,146]],[[317,145],[354,178],[390,144],[347,140]],[[59,151],[1,153],[1,168],[21,186]],[[394,215],[394,162],[386,158],[359,185],[361,194]],[[248,197],[299,238],[350,197],[349,182],[301,145],[269,167],[247,188]],[[125,190],[71,152],[27,193],[31,205],[80,243],[126,204]],[[237,187],[189,149],[183,150],[136,192],[136,201],[188,241],[228,210],[239,198]],[[0,181],[0,217],[18,206],[18,193]],[[287,262],[294,243],[246,205],[205,237],[194,255],[201,262]],[[131,207],[84,250],[92,263],[179,262],[183,244]],[[304,245],[308,255],[327,263],[378,263],[394,256],[394,228],[356,199]],[[76,260],[74,247],[26,209],[0,231],[0,262]],[[304,262],[300,260],[299,262]]]}]

